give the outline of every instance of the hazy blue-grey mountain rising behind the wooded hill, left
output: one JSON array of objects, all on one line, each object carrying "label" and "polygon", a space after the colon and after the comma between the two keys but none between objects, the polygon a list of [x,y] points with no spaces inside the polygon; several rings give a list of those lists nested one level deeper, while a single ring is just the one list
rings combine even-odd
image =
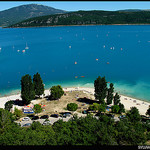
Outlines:
[{"label": "hazy blue-grey mountain rising behind the wooded hill, left", "polygon": [[8,26],[32,17],[62,14],[66,12],[67,11],[39,4],[21,5],[0,11],[0,26]]}]

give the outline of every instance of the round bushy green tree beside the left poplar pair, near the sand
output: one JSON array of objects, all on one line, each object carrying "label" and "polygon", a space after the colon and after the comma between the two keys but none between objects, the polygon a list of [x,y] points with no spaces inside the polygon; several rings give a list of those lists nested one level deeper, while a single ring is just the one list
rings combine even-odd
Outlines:
[{"label": "round bushy green tree beside the left poplar pair, near the sand", "polygon": [[64,94],[64,91],[60,85],[52,86],[50,92],[51,92],[50,99],[54,100],[61,98],[61,96]]}]

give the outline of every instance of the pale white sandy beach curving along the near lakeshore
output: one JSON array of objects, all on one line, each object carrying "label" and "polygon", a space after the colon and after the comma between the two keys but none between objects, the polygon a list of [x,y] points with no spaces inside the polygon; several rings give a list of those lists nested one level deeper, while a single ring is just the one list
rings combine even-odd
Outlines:
[{"label": "pale white sandy beach curving along the near lakeshore", "polygon": [[[93,95],[94,98],[94,88],[86,88],[86,87],[72,87],[72,88],[63,88],[64,91],[83,91],[84,93],[88,93]],[[44,91],[45,96],[49,95],[49,90]],[[139,99],[131,98],[128,96],[120,95],[121,103],[124,104],[126,110],[130,110],[131,107],[137,107],[141,115],[145,115],[147,109],[149,108],[150,103],[145,102]],[[21,100],[20,94],[11,95],[0,98],[0,108],[5,107],[5,103],[9,100]],[[31,101],[32,104],[40,103],[40,100]],[[15,106],[16,107],[16,106]],[[17,106],[17,108],[21,108],[21,106]]]}]

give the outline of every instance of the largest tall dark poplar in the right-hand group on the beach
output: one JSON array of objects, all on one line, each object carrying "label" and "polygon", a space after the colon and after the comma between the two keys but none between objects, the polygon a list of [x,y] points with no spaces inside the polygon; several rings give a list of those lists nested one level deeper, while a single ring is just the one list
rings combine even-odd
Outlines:
[{"label": "largest tall dark poplar in the right-hand group on the beach", "polygon": [[103,104],[104,103],[104,99],[106,97],[106,93],[107,93],[107,82],[105,80],[105,77],[98,77],[95,81],[94,81],[94,87],[95,87],[95,98],[99,100],[99,103]]}]

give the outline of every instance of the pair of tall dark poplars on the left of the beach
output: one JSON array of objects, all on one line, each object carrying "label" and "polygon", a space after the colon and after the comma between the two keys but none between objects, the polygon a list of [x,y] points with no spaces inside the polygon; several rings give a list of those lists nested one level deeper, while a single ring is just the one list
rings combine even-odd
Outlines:
[{"label": "pair of tall dark poplars on the left of the beach", "polygon": [[29,74],[22,76],[21,98],[25,105],[30,104],[31,100],[35,98],[35,95],[40,96],[43,93],[44,93],[44,84],[39,73],[34,75],[33,82]]}]

